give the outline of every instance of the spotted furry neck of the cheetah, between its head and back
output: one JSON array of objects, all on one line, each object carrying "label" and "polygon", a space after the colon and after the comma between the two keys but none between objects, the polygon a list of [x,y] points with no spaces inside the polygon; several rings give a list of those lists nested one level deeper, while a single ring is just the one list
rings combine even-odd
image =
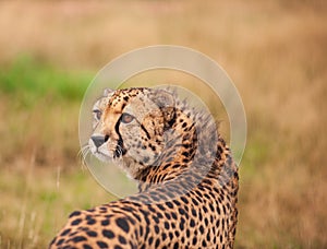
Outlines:
[{"label": "spotted furry neck of the cheetah, between its head and back", "polygon": [[216,123],[209,117],[191,117],[177,110],[166,137],[158,164],[147,166],[135,175],[140,192],[158,183],[201,182],[204,178],[217,180],[223,162],[231,158],[225,141],[217,134]]}]

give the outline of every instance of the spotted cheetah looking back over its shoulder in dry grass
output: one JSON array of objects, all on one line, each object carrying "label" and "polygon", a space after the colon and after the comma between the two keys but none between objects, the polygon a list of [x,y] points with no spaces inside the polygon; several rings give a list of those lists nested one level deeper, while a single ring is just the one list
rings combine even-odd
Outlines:
[{"label": "spotted cheetah looking back over its shoulder in dry grass", "polygon": [[93,114],[90,153],[138,193],[73,212],[49,248],[233,247],[238,166],[208,115],[149,87],[106,90]]}]

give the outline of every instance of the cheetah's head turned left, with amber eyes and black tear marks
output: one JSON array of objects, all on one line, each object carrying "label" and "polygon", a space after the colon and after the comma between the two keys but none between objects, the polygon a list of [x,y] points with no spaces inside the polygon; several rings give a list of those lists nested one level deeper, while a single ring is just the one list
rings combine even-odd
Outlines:
[{"label": "cheetah's head turned left, with amber eyes and black tear marks", "polygon": [[140,170],[155,165],[165,149],[174,97],[155,88],[106,90],[93,114],[90,152],[102,162],[119,161],[135,178]]}]

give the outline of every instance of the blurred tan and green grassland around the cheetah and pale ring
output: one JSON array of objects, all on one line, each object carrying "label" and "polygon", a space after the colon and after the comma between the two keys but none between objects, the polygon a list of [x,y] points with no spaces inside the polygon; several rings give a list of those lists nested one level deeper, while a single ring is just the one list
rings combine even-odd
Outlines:
[{"label": "blurred tan and green grassland around the cheetah and pale ring", "polygon": [[0,248],[45,248],[68,215],[113,200],[82,166],[95,73],[171,44],[215,59],[243,98],[235,248],[326,248],[326,1],[1,1]]}]

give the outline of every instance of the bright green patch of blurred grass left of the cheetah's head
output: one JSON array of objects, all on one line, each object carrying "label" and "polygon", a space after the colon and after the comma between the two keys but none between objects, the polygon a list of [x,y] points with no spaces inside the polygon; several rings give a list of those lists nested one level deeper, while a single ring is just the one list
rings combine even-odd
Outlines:
[{"label": "bright green patch of blurred grass left of the cheetah's head", "polygon": [[52,100],[81,100],[94,74],[68,72],[20,56],[0,69],[0,92],[19,98],[22,106],[38,103],[45,96]]}]

